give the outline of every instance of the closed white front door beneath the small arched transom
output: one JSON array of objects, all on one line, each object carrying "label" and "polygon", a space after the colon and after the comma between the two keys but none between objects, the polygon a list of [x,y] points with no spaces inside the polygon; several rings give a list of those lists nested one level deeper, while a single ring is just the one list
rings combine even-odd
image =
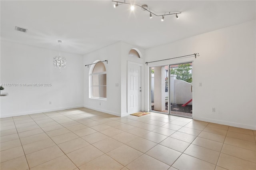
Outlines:
[{"label": "closed white front door beneath the small arched transom", "polygon": [[141,111],[141,66],[128,63],[127,81],[128,113]]}]

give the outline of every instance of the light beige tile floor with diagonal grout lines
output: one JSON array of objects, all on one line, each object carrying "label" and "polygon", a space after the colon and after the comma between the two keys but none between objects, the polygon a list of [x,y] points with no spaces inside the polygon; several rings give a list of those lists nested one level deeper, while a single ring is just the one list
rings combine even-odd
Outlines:
[{"label": "light beige tile floor with diagonal grout lines", "polygon": [[256,131],[87,108],[2,118],[1,170],[255,170]]}]

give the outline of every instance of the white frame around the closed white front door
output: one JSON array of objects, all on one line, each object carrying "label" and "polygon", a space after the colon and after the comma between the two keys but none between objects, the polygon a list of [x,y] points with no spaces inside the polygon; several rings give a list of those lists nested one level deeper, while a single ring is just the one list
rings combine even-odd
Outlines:
[{"label": "white frame around the closed white front door", "polygon": [[141,86],[141,93],[140,93],[140,110],[141,111],[144,111],[144,79],[142,79],[142,77],[144,77],[144,65],[143,64],[140,64],[140,63],[136,63],[136,62],[132,62],[132,61],[127,61],[127,68],[126,68],[126,71],[127,71],[127,75],[126,75],[126,108],[127,108],[127,113],[128,115],[131,114],[131,112],[129,111],[129,107],[128,107],[128,99],[129,99],[129,96],[128,96],[128,83],[130,83],[129,81],[129,77],[128,77],[128,69],[129,69],[129,65],[130,64],[135,64],[135,65],[138,65],[140,67],[140,86]]}]

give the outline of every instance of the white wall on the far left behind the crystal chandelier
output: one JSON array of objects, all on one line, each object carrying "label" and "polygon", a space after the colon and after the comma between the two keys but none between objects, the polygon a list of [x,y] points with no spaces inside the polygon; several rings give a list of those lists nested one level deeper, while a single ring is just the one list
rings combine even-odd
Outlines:
[{"label": "white wall on the far left behind the crystal chandelier", "polygon": [[[83,106],[82,55],[61,52],[67,66],[52,64],[58,51],[1,40],[1,83],[51,83],[51,87],[5,87],[1,117]],[[49,104],[49,101],[52,104]]]}]

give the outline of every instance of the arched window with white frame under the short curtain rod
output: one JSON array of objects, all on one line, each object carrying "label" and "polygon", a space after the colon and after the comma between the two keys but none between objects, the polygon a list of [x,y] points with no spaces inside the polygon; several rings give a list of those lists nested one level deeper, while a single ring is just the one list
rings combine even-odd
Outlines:
[{"label": "arched window with white frame under the short curtain rod", "polygon": [[91,96],[96,99],[107,99],[107,73],[104,63],[94,64],[91,74]]}]

